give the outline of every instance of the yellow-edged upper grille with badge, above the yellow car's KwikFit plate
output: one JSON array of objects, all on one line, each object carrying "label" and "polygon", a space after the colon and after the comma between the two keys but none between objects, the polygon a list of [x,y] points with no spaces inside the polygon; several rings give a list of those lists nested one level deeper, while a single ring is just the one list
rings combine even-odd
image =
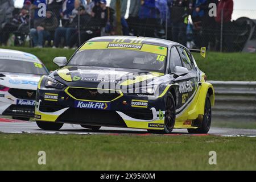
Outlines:
[{"label": "yellow-edged upper grille with badge, above the yellow car's KwikFit plate", "polygon": [[[119,92],[119,91],[118,91]],[[67,93],[75,97],[76,100],[88,100],[88,101],[113,101],[116,98],[121,97],[121,92],[117,93],[98,93],[97,89],[86,88],[68,88]]]}]

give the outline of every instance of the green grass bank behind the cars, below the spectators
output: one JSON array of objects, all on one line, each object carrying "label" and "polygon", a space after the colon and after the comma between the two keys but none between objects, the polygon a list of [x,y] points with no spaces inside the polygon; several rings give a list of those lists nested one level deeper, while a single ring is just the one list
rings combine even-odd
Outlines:
[{"label": "green grass bank behind the cars, below the spectators", "polygon": [[[73,49],[52,48],[24,48],[9,47],[20,51],[30,52],[41,59],[46,67],[53,71],[57,66],[52,63],[56,56],[71,57]],[[207,74],[208,80],[221,81],[256,81],[256,54],[255,53],[217,53],[208,52],[203,59],[195,53],[195,59],[199,68]]]}]

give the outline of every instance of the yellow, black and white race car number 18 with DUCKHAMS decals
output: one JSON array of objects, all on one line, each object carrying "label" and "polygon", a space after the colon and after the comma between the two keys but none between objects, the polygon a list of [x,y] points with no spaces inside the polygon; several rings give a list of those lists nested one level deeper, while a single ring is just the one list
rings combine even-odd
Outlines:
[{"label": "yellow, black and white race car number 18 with DUCKHAMS decals", "polygon": [[[205,50],[203,50],[205,51]],[[63,123],[152,133],[208,133],[214,89],[179,43],[155,38],[105,36],[84,43],[60,69],[43,76],[35,119],[44,130]]]}]

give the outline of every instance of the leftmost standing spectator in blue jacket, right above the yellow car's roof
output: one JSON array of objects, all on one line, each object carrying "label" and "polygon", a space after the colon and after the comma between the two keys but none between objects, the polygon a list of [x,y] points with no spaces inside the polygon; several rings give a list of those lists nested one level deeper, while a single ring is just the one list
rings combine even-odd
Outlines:
[{"label": "leftmost standing spectator in blue jacket, right above the yellow car's roof", "polygon": [[141,10],[139,11],[140,20],[140,36],[155,37],[156,27],[156,7],[155,0],[144,0],[141,3]]}]

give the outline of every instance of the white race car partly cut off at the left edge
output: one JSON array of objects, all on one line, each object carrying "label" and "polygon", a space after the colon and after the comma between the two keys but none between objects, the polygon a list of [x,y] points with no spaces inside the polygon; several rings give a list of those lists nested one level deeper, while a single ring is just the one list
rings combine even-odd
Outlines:
[{"label": "white race car partly cut off at the left edge", "polygon": [[49,72],[38,57],[0,49],[0,115],[27,121],[34,118],[36,89],[42,75]]}]

